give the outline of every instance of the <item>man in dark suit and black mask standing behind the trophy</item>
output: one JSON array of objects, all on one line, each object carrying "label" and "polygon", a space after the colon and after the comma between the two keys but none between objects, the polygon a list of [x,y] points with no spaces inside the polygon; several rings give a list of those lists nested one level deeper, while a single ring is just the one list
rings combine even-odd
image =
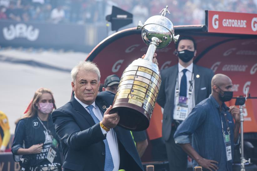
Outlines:
[{"label": "man in dark suit and black mask standing behind the trophy", "polygon": [[194,106],[209,97],[214,72],[193,64],[196,43],[192,37],[180,37],[175,53],[179,63],[161,71],[162,83],[157,102],[164,108],[162,136],[169,168],[184,171],[187,168],[187,154],[175,143],[173,136]]}]

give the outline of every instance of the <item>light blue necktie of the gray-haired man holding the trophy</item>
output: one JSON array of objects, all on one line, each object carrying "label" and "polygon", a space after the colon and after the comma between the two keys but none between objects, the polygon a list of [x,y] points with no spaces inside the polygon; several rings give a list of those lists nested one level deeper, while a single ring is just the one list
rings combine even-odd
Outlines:
[{"label": "light blue necktie of the gray-haired man holding the trophy", "polygon": [[[87,106],[90,115],[92,116],[94,122],[97,124],[100,121],[98,120],[98,118],[95,116],[94,112],[93,112],[93,105],[89,105]],[[108,141],[107,139],[103,140],[104,144],[105,144],[105,163],[104,163],[104,171],[112,171],[114,168],[113,165],[113,158],[112,158],[112,154],[111,151],[109,149],[109,145],[108,145]]]}]

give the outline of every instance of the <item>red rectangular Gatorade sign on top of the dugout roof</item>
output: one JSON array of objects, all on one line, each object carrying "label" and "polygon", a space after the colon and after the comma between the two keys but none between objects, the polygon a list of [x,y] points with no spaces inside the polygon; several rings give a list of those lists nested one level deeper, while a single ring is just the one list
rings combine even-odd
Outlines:
[{"label": "red rectangular Gatorade sign on top of the dugout roof", "polygon": [[257,35],[257,14],[219,11],[206,11],[206,14],[208,32]]}]

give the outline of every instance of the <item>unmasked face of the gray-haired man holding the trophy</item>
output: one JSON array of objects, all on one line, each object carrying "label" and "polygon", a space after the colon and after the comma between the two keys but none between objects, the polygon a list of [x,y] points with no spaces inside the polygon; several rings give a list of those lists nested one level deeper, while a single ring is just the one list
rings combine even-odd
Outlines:
[{"label": "unmasked face of the gray-haired man holding the trophy", "polygon": [[97,96],[100,81],[94,72],[78,71],[75,83],[71,83],[76,97],[87,105],[91,105]]}]

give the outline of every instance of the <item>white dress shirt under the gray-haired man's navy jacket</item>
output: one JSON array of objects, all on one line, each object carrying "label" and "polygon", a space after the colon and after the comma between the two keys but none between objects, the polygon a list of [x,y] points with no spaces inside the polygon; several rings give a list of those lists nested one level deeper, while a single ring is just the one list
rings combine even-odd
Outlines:
[{"label": "white dress shirt under the gray-haired man's navy jacket", "polygon": [[[74,95],[75,99],[84,107],[86,108],[88,105],[84,104],[82,101],[78,100],[78,98]],[[99,109],[99,107],[93,102],[92,104],[93,107],[93,112],[95,116],[98,118],[98,120],[102,121],[103,120],[103,115]],[[86,110],[89,112],[89,110],[86,108]],[[99,125],[100,126],[100,125]],[[112,154],[113,158],[113,165],[114,169],[113,171],[117,171],[119,169],[119,163],[120,163],[120,158],[119,158],[119,147],[118,147],[118,140],[116,133],[114,132],[113,129],[110,129],[110,131],[106,132],[102,127],[101,127],[103,135],[106,134],[106,139],[108,141],[109,149]]]}]

